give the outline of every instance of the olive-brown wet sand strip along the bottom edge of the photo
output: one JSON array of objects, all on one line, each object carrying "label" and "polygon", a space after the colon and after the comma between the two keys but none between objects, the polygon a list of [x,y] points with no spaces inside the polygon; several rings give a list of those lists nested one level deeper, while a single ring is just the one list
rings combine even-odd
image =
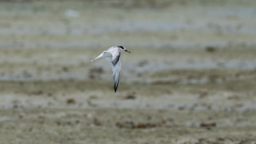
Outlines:
[{"label": "olive-brown wet sand strip along the bottom edge of the photo", "polygon": [[1,110],[4,143],[251,143],[255,110]]}]

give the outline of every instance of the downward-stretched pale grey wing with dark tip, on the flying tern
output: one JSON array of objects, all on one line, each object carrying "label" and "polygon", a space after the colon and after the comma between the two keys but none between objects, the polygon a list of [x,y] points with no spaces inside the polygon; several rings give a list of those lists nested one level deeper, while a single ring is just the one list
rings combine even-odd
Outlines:
[{"label": "downward-stretched pale grey wing with dark tip, on the flying tern", "polygon": [[120,70],[121,70],[121,63],[120,63],[120,54],[121,50],[116,49],[116,51],[112,51],[112,56],[106,57],[107,61],[109,62],[110,66],[112,67],[113,71],[113,79],[114,79],[114,89],[116,93],[116,89],[119,83],[120,78]]}]

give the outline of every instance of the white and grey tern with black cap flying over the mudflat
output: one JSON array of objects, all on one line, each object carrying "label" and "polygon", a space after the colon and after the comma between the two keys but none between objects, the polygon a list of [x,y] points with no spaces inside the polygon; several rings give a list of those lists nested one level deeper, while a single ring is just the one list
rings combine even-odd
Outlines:
[{"label": "white and grey tern with black cap flying over the mudflat", "polygon": [[123,46],[113,46],[108,50],[102,52],[97,58],[91,60],[92,62],[94,60],[100,60],[103,58],[107,59],[113,71],[115,93],[116,93],[117,86],[119,83],[119,78],[120,78],[120,70],[121,70],[120,54],[122,51],[131,53],[130,51],[127,51]]}]

